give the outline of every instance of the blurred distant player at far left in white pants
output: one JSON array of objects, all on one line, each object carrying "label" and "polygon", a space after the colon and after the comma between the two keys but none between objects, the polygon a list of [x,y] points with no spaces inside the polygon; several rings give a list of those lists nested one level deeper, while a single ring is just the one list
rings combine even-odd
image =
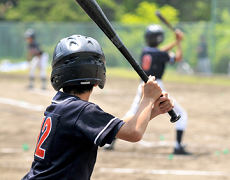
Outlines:
[{"label": "blurred distant player at far left in white pants", "polygon": [[40,79],[41,79],[41,88],[46,89],[46,67],[49,61],[49,54],[43,52],[36,42],[35,33],[33,29],[28,29],[25,32],[25,38],[27,41],[27,60],[29,63],[29,85],[28,88],[32,89],[34,87],[35,72],[36,69],[40,69]]}]

